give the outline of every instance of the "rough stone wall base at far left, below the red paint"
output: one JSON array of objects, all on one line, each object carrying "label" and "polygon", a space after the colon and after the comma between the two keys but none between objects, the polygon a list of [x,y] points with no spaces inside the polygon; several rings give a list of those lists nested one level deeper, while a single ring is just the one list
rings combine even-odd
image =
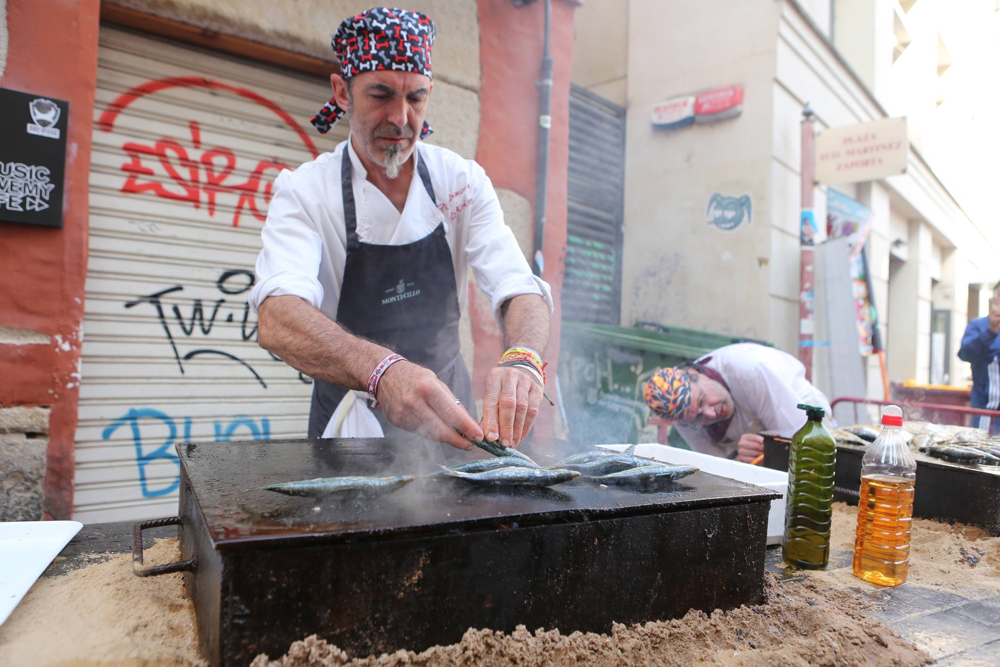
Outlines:
[{"label": "rough stone wall base at far left, below the red paint", "polygon": [[0,521],[40,521],[51,410],[0,408]]}]

